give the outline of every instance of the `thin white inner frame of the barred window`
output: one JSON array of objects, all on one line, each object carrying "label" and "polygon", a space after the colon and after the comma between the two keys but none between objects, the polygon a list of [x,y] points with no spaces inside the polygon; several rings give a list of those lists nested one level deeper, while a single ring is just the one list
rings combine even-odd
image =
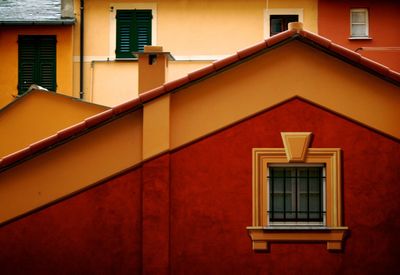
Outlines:
[{"label": "thin white inner frame of the barred window", "polygon": [[[313,228],[321,228],[321,227],[326,227],[326,168],[324,164],[311,164],[311,163],[301,163],[301,164],[296,164],[296,163],[290,163],[290,164],[270,164],[268,165],[267,168],[267,194],[268,197],[270,196],[270,181],[269,181],[269,168],[270,167],[322,167],[322,176],[323,176],[323,181],[322,181],[322,212],[323,212],[323,220],[322,222],[296,222],[296,221],[279,221],[279,222],[272,222],[269,217],[269,207],[270,203],[267,204],[267,220],[268,220],[268,225],[270,227],[282,227],[282,228],[303,228],[303,229],[313,229]],[[297,195],[297,194],[296,194]],[[268,199],[269,201],[269,199]]]}]

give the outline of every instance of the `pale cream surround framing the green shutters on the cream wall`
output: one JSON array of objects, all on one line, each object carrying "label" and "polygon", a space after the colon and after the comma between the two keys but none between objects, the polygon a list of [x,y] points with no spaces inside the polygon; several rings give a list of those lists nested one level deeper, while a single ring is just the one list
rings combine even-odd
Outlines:
[{"label": "pale cream surround framing the green shutters on the cream wall", "polygon": [[117,10],[151,10],[153,20],[151,22],[151,43],[157,45],[157,4],[156,3],[110,3],[109,19],[109,57],[116,59],[115,49],[117,48]]}]

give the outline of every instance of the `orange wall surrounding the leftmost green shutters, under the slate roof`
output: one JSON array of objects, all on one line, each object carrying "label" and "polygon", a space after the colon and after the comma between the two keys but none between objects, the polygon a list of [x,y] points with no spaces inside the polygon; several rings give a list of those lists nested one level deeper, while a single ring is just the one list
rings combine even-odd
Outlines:
[{"label": "orange wall surrounding the leftmost green shutters, under the slate roof", "polygon": [[57,36],[57,93],[73,94],[72,26],[1,26],[0,108],[18,94],[18,35]]}]

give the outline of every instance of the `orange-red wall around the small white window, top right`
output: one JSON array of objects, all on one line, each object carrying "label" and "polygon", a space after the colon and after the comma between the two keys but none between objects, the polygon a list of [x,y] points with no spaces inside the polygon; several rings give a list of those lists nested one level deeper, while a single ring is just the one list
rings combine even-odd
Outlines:
[{"label": "orange-red wall around the small white window, top right", "polygon": [[[368,8],[372,40],[349,40],[350,9]],[[398,16],[400,1],[319,0],[318,32],[335,43],[356,50],[360,47],[400,47]],[[400,71],[400,51],[359,51],[363,56]]]}]

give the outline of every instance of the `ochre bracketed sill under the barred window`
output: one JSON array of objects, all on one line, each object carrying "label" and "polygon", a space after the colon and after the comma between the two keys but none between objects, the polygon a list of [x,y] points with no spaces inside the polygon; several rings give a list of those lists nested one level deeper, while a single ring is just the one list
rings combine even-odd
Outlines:
[{"label": "ochre bracketed sill under the barred window", "polygon": [[270,242],[326,242],[327,249],[340,251],[347,227],[247,227],[253,250],[268,251]]}]

